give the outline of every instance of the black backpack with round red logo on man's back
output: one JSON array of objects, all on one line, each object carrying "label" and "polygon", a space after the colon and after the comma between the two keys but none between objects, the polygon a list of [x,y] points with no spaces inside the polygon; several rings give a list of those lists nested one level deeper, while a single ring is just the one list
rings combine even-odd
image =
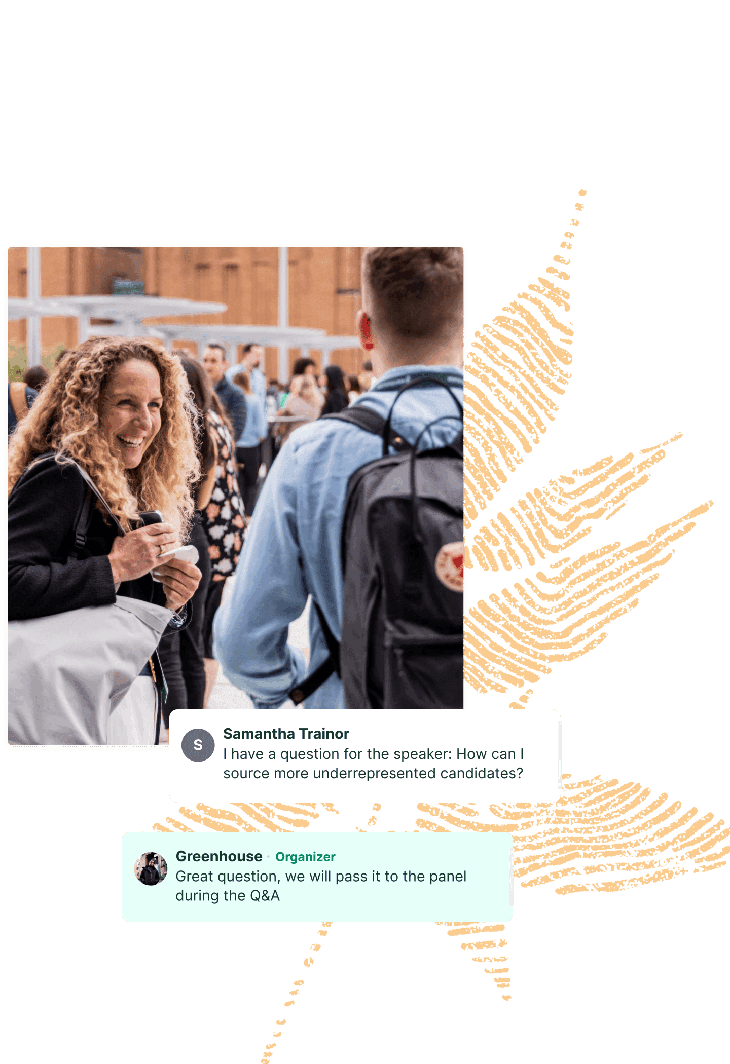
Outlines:
[{"label": "black backpack with round red logo on man's back", "polygon": [[[417,450],[364,405],[328,414],[383,439],[383,455],[352,473],[341,542],[342,643],[313,602],[330,656],[289,692],[302,702],[336,671],[348,709],[461,709],[464,704],[464,443]],[[396,449],[389,454],[389,447]]]}]

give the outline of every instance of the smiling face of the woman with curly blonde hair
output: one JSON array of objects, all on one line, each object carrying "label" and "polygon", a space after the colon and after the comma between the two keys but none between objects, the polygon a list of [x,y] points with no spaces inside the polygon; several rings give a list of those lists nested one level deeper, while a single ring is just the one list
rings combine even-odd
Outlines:
[{"label": "smiling face of the woman with curly blonde hair", "polygon": [[130,359],[111,375],[99,400],[99,425],[125,469],[135,469],[162,425],[160,373]]}]

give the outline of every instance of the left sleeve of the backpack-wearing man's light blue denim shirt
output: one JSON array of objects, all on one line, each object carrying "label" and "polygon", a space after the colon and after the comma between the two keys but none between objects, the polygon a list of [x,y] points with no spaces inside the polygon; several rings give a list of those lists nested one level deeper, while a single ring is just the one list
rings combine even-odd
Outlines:
[{"label": "left sleeve of the backpack-wearing man's light blue denim shirt", "polygon": [[304,654],[287,644],[308,589],[297,536],[297,452],[284,448],[271,466],[246,537],[230,598],[213,626],[223,672],[256,709],[276,709],[306,675]]}]

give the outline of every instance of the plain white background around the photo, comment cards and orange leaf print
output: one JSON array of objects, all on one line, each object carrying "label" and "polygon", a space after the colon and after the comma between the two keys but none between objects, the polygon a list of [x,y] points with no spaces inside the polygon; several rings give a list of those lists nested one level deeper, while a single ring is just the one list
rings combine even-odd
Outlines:
[{"label": "plain white background around the photo, comment cards and orange leaf print", "polygon": [[[568,285],[574,380],[499,506],[677,431],[591,545],[716,505],[638,609],[555,666],[531,704],[560,710],[575,779],[640,780],[718,816],[730,812],[720,10],[18,6],[5,15],[1,234],[3,246],[463,244],[470,336],[548,265],[587,188]],[[167,755],[0,758],[14,1055],[94,1047],[116,1062],[155,1038],[180,1064],[258,1061],[297,978],[276,1064],[683,1061],[721,1045],[727,869],[618,895],[517,890],[503,1003],[430,925],[336,925],[310,972],[308,925],[126,925],[119,838],[175,812]],[[368,813],[341,807],[337,827]],[[378,827],[414,818],[392,807]]]}]

